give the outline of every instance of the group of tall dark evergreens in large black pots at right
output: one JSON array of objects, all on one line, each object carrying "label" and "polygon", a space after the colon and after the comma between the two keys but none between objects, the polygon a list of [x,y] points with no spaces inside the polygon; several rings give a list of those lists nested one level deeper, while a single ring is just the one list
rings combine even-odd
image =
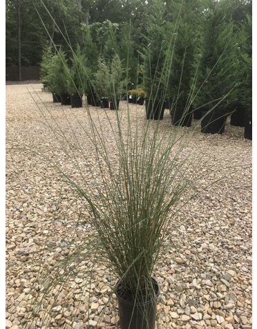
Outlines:
[{"label": "group of tall dark evergreens in large black pots at right", "polygon": [[173,124],[191,126],[193,114],[203,133],[223,133],[231,114],[251,139],[251,17],[238,28],[222,6],[210,3],[200,39],[183,17],[151,26],[142,53],[146,118],[162,119],[167,97]]}]

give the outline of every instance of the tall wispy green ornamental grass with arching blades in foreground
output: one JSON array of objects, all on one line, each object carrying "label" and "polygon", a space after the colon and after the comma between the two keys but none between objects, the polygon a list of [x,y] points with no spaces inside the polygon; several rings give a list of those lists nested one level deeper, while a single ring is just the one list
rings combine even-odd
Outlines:
[{"label": "tall wispy green ornamental grass with arching blades in foreground", "polygon": [[[169,47],[173,46],[173,41],[171,37]],[[163,83],[164,71],[160,71],[159,64],[164,63],[166,69],[166,63],[170,63],[171,73],[172,62],[162,52],[163,45],[160,45],[161,53],[152,58],[153,46],[150,46],[149,56],[146,57],[149,67],[153,68],[153,63],[156,65],[155,70],[151,71],[151,88],[146,92],[152,97],[160,95],[164,99],[167,82]],[[73,55],[81,66],[77,70],[80,75],[86,68],[74,51]],[[58,60],[60,58],[64,65],[64,54],[60,53]],[[102,96],[110,88],[117,97],[120,95],[120,84],[116,85],[114,80],[107,79],[106,64],[101,62],[101,65],[104,68],[101,73],[104,72],[104,75],[98,77],[96,73],[95,77],[99,79],[99,83],[104,79]],[[65,74],[65,70],[62,73]],[[169,77],[165,75],[167,76]],[[97,83],[95,91],[99,92]],[[56,92],[63,93],[64,90],[60,88]],[[225,97],[223,94],[220,97],[219,102],[222,102]],[[168,227],[172,225],[178,205],[181,207],[180,198],[184,197],[184,203],[195,197],[199,193],[195,188],[196,182],[213,171],[213,167],[204,167],[196,176],[192,177],[190,174],[191,166],[200,162],[206,150],[201,150],[198,154],[184,154],[187,130],[181,132],[179,127],[175,127],[163,135],[160,133],[160,122],[132,122],[128,108],[126,114],[115,111],[113,120],[110,120],[107,110],[101,109],[102,114],[98,112],[97,121],[92,120],[91,107],[84,108],[84,121],[72,111],[71,117],[64,114],[68,126],[64,131],[55,115],[41,102],[40,95],[35,99],[35,104],[46,129],[59,142],[66,163],[59,161],[57,154],[48,156],[42,154],[40,149],[31,150],[29,145],[22,149],[39,156],[70,185],[73,195],[77,195],[81,209],[75,227],[83,224],[88,230],[81,244],[75,245],[73,241],[67,241],[73,251],[68,252],[63,261],[55,263],[49,272],[40,274],[40,284],[35,284],[35,294],[32,296],[30,311],[24,319],[24,328],[33,328],[40,312],[43,314],[41,322],[48,328],[48,306],[51,309],[56,305],[61,287],[67,284],[70,276],[77,276],[80,265],[84,262],[88,266],[83,267],[82,275],[89,294],[93,281],[92,268],[97,263],[108,269],[107,274],[111,273],[115,281],[119,281],[122,297],[128,301],[142,303],[156,299],[151,278],[166,236],[170,233]],[[73,118],[76,126],[70,122],[70,118]],[[106,125],[112,133],[111,149],[106,138]],[[88,149],[81,142],[81,135],[93,149],[93,164],[89,160]],[[228,170],[228,166],[215,170],[222,172]],[[230,169],[229,173],[234,170],[236,168]],[[202,190],[208,186],[207,182]],[[44,257],[42,263],[43,259]],[[49,304],[47,296],[53,287],[57,287],[57,292],[55,299]]]}]

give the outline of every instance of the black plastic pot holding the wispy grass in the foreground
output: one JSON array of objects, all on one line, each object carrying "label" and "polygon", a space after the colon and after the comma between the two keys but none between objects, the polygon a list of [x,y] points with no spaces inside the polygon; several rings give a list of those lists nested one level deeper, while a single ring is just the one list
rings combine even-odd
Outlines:
[{"label": "black plastic pot holding the wispy grass in the foreground", "polygon": [[160,287],[155,279],[152,279],[155,289],[155,298],[133,303],[127,301],[120,292],[120,281],[115,285],[117,296],[120,328],[121,329],[155,329],[156,299],[160,295]]}]

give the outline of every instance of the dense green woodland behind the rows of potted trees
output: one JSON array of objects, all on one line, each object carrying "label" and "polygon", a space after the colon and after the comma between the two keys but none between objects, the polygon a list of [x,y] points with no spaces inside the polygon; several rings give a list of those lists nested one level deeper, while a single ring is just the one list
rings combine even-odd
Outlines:
[{"label": "dense green woodland behind the rows of potted trees", "polygon": [[[212,0],[214,1],[214,0]],[[143,36],[147,34],[146,27],[154,18],[162,23],[162,20],[174,21],[178,16],[179,0],[6,0],[6,66],[18,64],[18,7],[20,6],[21,27],[21,65],[38,65],[41,62],[42,50],[46,44],[51,44],[50,36],[55,44],[62,45],[68,51],[66,42],[61,36],[57,26],[67,32],[70,43],[76,47],[77,42],[83,48],[86,41],[85,27],[91,28],[91,36],[101,50],[104,44],[119,41],[122,37],[131,38],[135,44],[135,54],[144,43]],[[251,1],[226,0],[227,11],[236,23],[245,20],[251,15]],[[55,19],[57,26],[48,14]],[[184,0],[184,10],[187,20],[199,25],[202,12],[209,6],[209,1]],[[46,32],[41,19],[46,25]],[[163,14],[160,19],[160,12]],[[111,39],[104,35],[104,21],[116,23],[115,36]],[[105,24],[107,25],[107,23]],[[127,34],[127,35],[126,35]],[[101,39],[102,38],[102,39]],[[124,43],[120,43],[120,48]],[[115,46],[115,45],[114,45]],[[110,47],[108,47],[110,48]],[[122,49],[121,49],[122,50]],[[107,52],[108,50],[106,50]],[[106,54],[107,55],[107,54]],[[122,57],[122,56],[121,56]]]}]

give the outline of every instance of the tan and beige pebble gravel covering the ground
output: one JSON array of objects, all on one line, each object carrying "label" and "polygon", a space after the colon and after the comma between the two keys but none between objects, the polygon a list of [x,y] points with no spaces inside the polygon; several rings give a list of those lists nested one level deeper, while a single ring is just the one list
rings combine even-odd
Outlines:
[{"label": "tan and beige pebble gravel covering the ground", "polygon": [[[80,263],[71,259],[68,270],[54,267],[88,242],[88,214],[59,174],[35,152],[22,147],[29,145],[51,160],[58,159],[64,170],[79,179],[72,163],[75,156],[82,165],[86,161],[84,167],[95,170],[93,180],[89,169],[85,170],[92,186],[98,180],[95,155],[81,129],[81,123],[88,129],[84,110],[53,104],[50,93],[41,87],[6,86],[6,328],[117,328],[111,289],[115,278],[104,265],[85,257]],[[121,102],[124,122],[126,106]],[[115,112],[107,113],[114,122]],[[129,113],[133,122],[143,124],[143,106],[129,104]],[[113,132],[104,111],[92,107],[91,115],[94,122],[104,122],[102,134],[115,160]],[[197,123],[193,120],[190,129],[180,129],[187,131],[184,155],[206,150],[189,173],[214,167],[196,189],[207,179],[223,179],[185,202],[170,220],[170,234],[154,272],[161,289],[157,326],[248,329],[252,326],[251,141],[243,139],[243,128],[229,126],[229,122],[223,135],[202,134]],[[48,124],[65,131],[70,153]],[[175,129],[168,110],[160,127],[163,134]],[[78,143],[86,159],[79,153]],[[241,167],[235,170],[236,166]],[[222,170],[218,173],[216,169]],[[93,274],[90,278],[84,275],[88,268]]]}]

